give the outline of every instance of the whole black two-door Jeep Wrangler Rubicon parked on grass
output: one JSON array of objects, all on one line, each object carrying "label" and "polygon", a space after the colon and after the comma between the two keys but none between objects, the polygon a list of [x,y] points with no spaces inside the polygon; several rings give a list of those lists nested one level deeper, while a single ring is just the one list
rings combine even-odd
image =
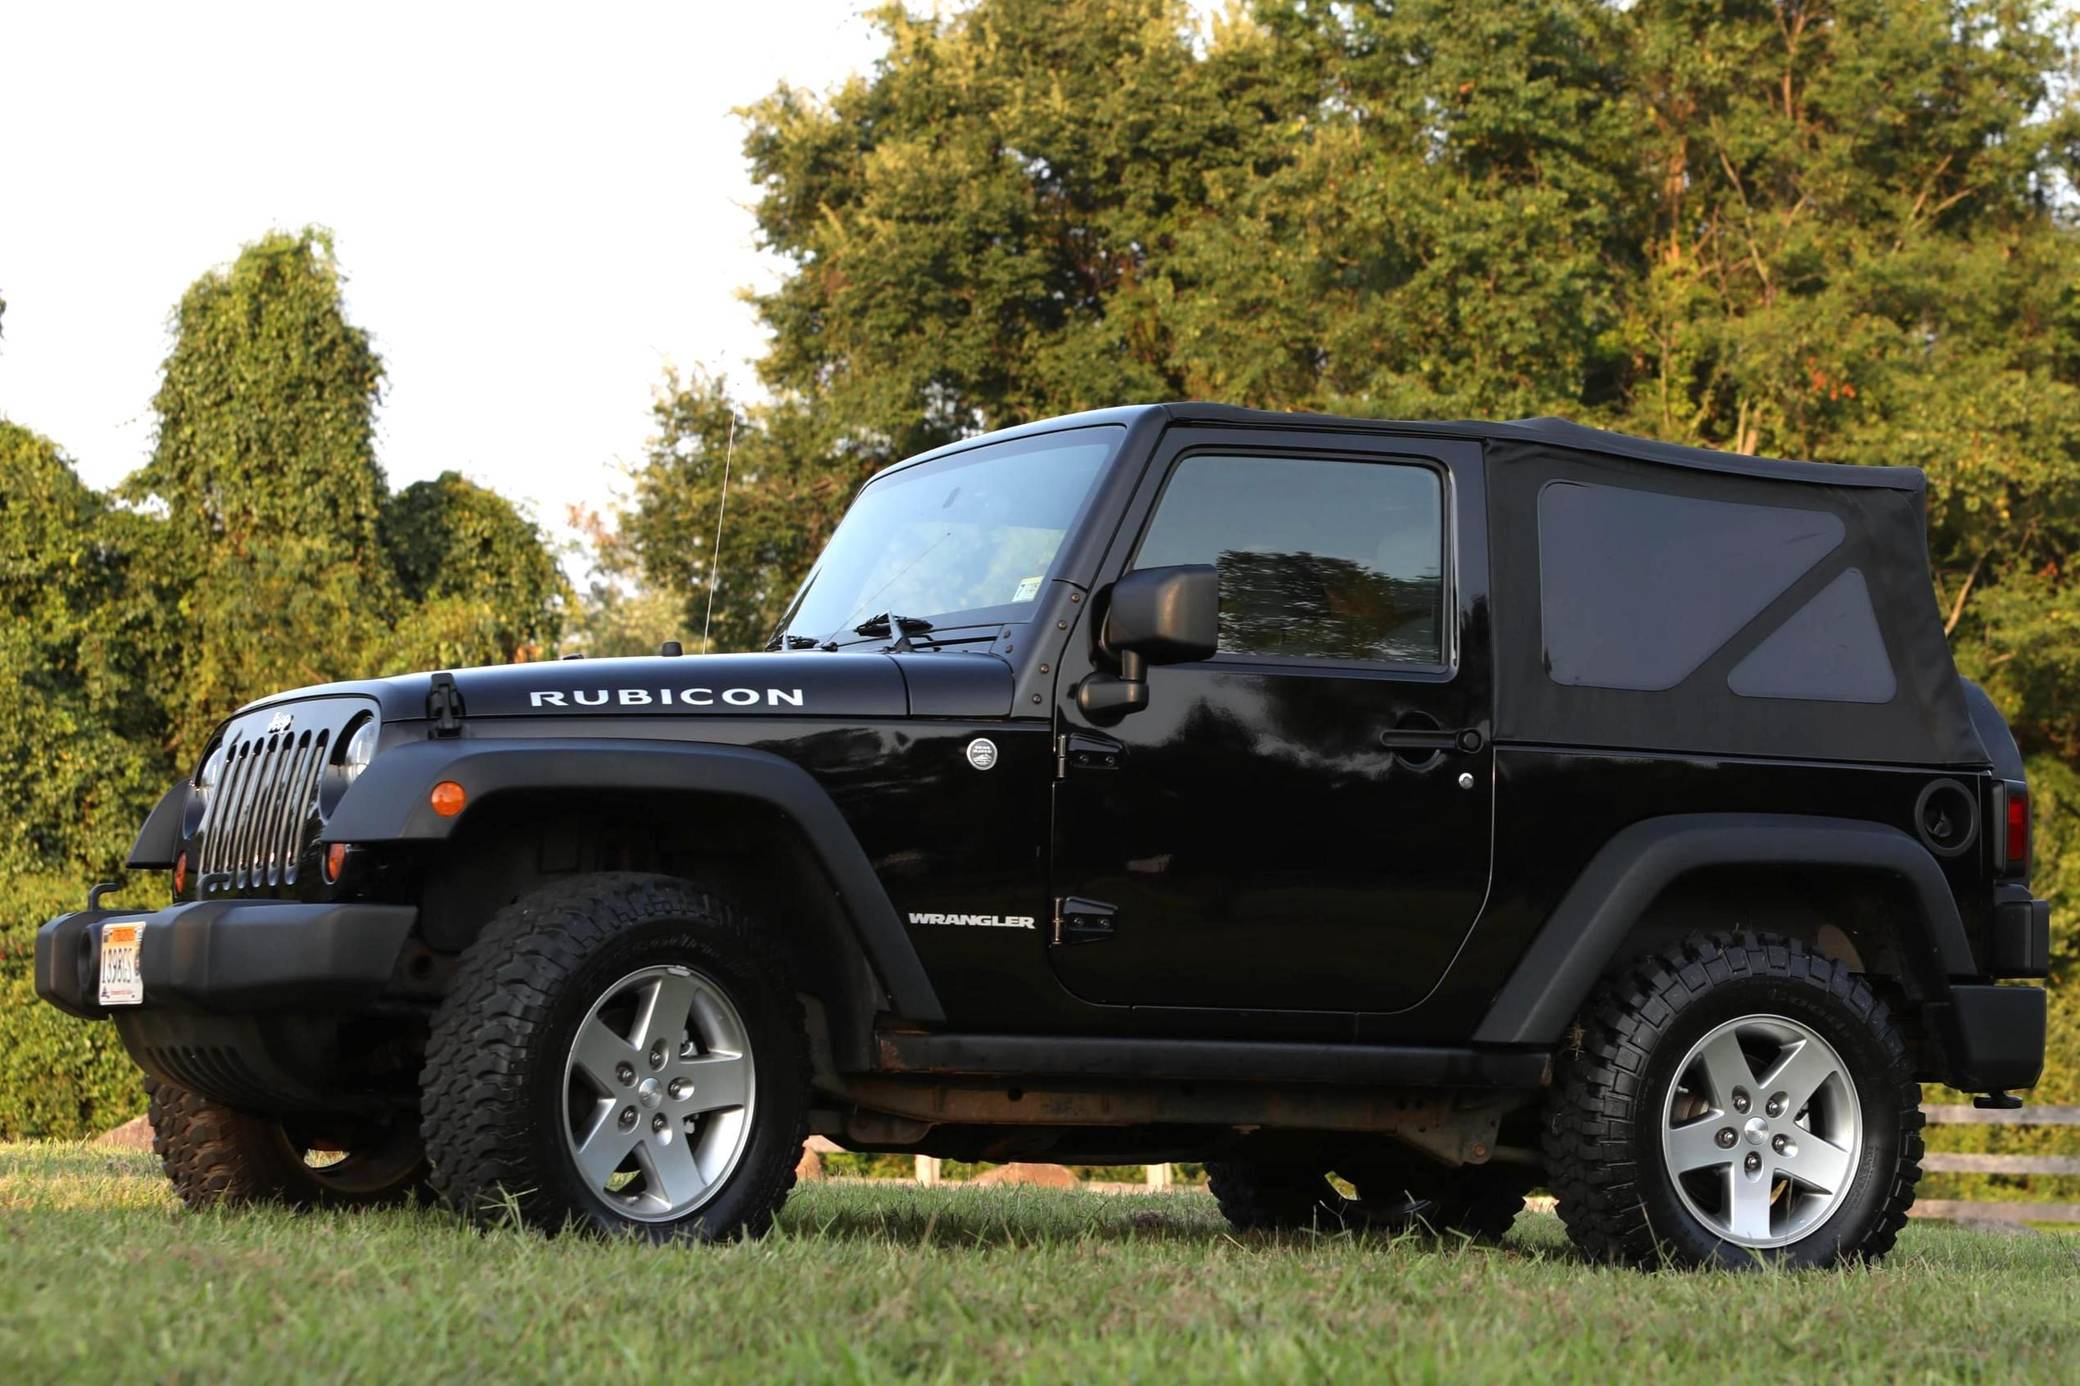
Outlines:
[{"label": "whole black two-door Jeep Wrangler Rubicon parked on grass", "polygon": [[[2049,916],[1922,474],[1177,404],[888,468],[765,653],[252,703],[37,936],[189,1203],[757,1234],[805,1134],[1250,1228],[1891,1247]],[[100,895],[100,891],[96,893]]]}]

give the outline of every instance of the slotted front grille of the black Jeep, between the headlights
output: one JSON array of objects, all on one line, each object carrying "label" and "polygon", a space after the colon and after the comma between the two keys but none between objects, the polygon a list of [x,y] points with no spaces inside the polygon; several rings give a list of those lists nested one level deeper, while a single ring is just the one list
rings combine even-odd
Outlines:
[{"label": "slotted front grille of the black Jeep, between the headlights", "polygon": [[318,835],[331,751],[368,712],[360,699],[318,699],[250,712],[225,728],[225,760],[196,847],[204,899],[295,884]]}]

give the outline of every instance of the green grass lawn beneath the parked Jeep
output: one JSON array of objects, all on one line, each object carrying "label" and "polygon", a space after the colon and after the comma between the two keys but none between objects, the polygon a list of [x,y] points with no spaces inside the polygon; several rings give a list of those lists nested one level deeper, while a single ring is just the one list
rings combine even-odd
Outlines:
[{"label": "green grass lawn beneath the parked Jeep", "polygon": [[1876,1269],[1233,1236],[1200,1195],[805,1186],[763,1242],[179,1211],[150,1157],[0,1145],[0,1378],[2080,1380],[2080,1238],[1914,1226]]}]

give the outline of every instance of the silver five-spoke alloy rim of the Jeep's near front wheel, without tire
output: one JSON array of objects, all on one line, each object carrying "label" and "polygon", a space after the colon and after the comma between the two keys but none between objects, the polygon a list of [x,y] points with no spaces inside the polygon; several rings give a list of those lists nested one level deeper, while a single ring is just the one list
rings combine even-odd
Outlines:
[{"label": "silver five-spoke alloy rim of the Jeep's near front wheel, without tire", "polygon": [[584,1186],[636,1222],[684,1217],[751,1143],[751,1032],[713,978],[641,968],[584,1013],[564,1095],[564,1140]]}]

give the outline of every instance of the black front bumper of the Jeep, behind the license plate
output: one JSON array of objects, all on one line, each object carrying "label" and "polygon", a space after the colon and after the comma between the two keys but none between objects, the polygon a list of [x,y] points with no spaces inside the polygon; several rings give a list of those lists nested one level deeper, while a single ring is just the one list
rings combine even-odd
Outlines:
[{"label": "black front bumper of the Jeep, behind the license plate", "polygon": [[[102,1020],[139,1009],[352,1011],[397,976],[410,905],[206,899],[154,914],[81,909],[35,934],[35,995]],[[102,1007],[102,924],[144,920],[144,1005]]]}]

